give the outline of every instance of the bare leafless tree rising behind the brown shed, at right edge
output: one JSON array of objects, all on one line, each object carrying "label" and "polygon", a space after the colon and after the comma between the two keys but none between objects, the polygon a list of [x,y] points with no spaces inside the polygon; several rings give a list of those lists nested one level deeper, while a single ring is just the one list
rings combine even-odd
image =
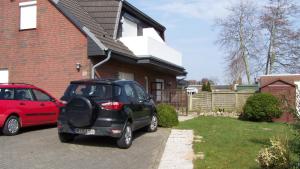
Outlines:
[{"label": "bare leafless tree rising behind the brown shed, at right edge", "polygon": [[266,32],[265,74],[300,70],[300,31],[292,22],[298,14],[293,0],[269,0],[264,6],[261,25]]}]

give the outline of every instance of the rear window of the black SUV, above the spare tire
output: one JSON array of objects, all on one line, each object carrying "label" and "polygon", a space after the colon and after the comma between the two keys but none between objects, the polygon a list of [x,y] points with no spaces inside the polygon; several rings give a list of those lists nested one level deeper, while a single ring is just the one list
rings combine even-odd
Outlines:
[{"label": "rear window of the black SUV, above the spare tire", "polygon": [[105,84],[71,84],[65,96],[95,97],[97,99],[111,99],[112,86]]}]

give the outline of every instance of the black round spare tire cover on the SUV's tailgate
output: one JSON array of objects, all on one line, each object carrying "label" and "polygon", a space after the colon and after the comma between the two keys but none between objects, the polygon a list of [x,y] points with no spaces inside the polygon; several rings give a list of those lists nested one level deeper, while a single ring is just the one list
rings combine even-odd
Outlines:
[{"label": "black round spare tire cover on the SUV's tailgate", "polygon": [[75,97],[66,105],[68,122],[74,127],[87,127],[92,125],[95,106],[85,97]]}]

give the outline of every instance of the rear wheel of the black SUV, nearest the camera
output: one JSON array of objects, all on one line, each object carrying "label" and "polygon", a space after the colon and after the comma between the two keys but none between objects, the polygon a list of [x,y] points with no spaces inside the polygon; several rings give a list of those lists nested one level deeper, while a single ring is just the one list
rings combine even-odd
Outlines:
[{"label": "rear wheel of the black SUV, nearest the camera", "polygon": [[129,148],[132,144],[132,138],[132,127],[130,123],[127,123],[122,136],[117,140],[118,147],[124,149]]}]

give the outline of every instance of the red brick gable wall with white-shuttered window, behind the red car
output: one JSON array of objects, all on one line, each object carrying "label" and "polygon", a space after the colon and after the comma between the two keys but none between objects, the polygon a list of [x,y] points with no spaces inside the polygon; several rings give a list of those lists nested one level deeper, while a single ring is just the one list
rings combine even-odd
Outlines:
[{"label": "red brick gable wall with white-shuttered window, behind the red car", "polygon": [[61,97],[70,80],[90,75],[87,39],[48,0],[37,1],[37,28],[20,31],[20,2],[26,1],[0,1],[0,69],[9,70],[10,82],[34,84]]}]

